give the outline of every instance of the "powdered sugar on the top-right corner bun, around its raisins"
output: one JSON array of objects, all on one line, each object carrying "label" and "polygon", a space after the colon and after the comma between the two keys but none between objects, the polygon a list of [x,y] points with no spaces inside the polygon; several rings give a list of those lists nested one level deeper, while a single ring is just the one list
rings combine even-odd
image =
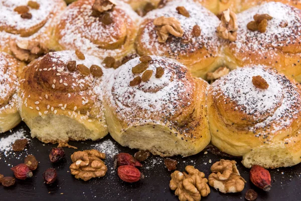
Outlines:
[{"label": "powdered sugar on the top-right corner bun, around its raisins", "polygon": [[[254,21],[253,16],[256,14],[268,14],[272,17],[267,22],[265,33],[247,29],[247,24]],[[237,40],[233,42],[234,52],[256,52],[261,56],[273,58],[276,55],[271,50],[282,49],[300,41],[301,12],[281,3],[270,2],[239,13],[237,23]],[[280,26],[286,23],[287,26]],[[244,58],[244,60],[247,59],[247,57]]]}]

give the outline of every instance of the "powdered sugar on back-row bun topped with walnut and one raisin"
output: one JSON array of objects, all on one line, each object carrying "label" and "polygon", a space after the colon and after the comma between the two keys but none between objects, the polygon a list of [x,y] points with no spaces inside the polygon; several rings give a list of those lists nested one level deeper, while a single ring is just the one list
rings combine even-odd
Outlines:
[{"label": "powdered sugar on back-row bun topped with walnut and one raisin", "polygon": [[[189,18],[178,14],[176,8],[181,6],[185,7],[189,12]],[[153,20],[161,16],[176,18],[181,23],[181,27],[184,31],[183,37],[171,37],[171,41],[167,41],[163,44],[159,43]],[[177,58],[178,56],[181,57],[180,54],[185,55],[188,52],[194,52],[202,48],[210,51],[211,55],[209,54],[208,57],[217,54],[216,52],[220,46],[220,42],[215,30],[220,21],[213,13],[200,4],[191,0],[172,1],[167,3],[162,9],[149,12],[143,18],[143,22],[149,19],[151,21],[140,28],[143,32],[139,42],[142,43],[141,46],[146,48],[147,51],[152,51],[152,54],[163,56],[168,52],[172,57]],[[201,29],[201,35],[199,37],[192,35],[192,30],[195,25],[198,25]],[[184,42],[184,40],[188,42]],[[156,47],[155,50],[154,47]]]}]

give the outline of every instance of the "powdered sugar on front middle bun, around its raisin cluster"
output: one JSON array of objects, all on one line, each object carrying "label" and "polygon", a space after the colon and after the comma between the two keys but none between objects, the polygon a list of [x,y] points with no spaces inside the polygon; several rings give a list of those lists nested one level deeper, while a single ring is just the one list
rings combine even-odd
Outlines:
[{"label": "powdered sugar on front middle bun, around its raisin cluster", "polygon": [[[154,119],[172,118],[181,113],[183,108],[192,103],[192,93],[195,85],[182,64],[163,57],[152,56],[147,70],[153,70],[153,75],[146,82],[129,86],[135,76],[132,67],[140,63],[139,58],[132,59],[120,66],[113,74],[106,88],[105,96],[121,119],[131,119],[143,122]],[[164,68],[164,75],[156,78],[156,68]]]}]

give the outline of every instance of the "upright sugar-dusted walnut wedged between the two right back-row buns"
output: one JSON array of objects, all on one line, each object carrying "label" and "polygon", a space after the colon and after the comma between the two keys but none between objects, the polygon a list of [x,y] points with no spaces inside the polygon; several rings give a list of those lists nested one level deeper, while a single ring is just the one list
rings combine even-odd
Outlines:
[{"label": "upright sugar-dusted walnut wedged between the two right back-row buns", "polygon": [[237,18],[236,14],[230,9],[222,13],[221,23],[217,27],[217,36],[229,41],[235,41],[237,36]]}]

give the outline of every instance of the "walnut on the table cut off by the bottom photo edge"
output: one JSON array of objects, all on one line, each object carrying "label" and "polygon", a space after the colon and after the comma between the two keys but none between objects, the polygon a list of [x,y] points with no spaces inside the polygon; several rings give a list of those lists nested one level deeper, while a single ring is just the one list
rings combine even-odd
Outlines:
[{"label": "walnut on the table cut off by the bottom photo edge", "polygon": [[175,194],[179,196],[180,201],[184,200],[201,200],[210,193],[207,184],[208,180],[203,172],[195,169],[193,166],[186,166],[188,172],[174,171],[171,174],[170,188],[176,190]]}]

